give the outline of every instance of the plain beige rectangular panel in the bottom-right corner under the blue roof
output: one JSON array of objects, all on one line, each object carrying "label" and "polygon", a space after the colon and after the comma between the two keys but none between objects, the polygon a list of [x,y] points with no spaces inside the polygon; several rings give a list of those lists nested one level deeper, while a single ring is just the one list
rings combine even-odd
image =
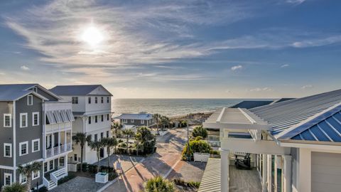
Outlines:
[{"label": "plain beige rectangular panel in the bottom-right corner under the blue roof", "polygon": [[312,152],[311,191],[341,191],[341,154]]}]

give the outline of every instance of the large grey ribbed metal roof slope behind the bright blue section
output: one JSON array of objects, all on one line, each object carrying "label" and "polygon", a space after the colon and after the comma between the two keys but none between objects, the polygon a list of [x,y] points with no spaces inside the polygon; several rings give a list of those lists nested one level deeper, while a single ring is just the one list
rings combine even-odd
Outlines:
[{"label": "large grey ribbed metal roof slope behind the bright blue section", "polygon": [[320,114],[341,102],[341,90],[256,107],[249,111],[271,125],[269,132],[276,137],[288,128]]}]

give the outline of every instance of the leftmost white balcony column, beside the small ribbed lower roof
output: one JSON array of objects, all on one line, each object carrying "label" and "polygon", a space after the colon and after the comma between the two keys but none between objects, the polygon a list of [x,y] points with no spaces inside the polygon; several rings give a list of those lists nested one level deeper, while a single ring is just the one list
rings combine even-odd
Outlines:
[{"label": "leftmost white balcony column, beside the small ribbed lower roof", "polygon": [[222,192],[229,191],[229,150],[220,149],[220,166],[221,166],[221,173],[220,173],[220,184]]}]

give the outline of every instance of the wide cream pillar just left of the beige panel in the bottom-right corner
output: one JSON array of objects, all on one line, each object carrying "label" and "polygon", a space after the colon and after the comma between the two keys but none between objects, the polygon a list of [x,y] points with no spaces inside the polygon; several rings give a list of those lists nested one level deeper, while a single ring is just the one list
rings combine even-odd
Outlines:
[{"label": "wide cream pillar just left of the beige panel in the bottom-right corner", "polygon": [[311,191],[311,151],[299,149],[298,191]]}]

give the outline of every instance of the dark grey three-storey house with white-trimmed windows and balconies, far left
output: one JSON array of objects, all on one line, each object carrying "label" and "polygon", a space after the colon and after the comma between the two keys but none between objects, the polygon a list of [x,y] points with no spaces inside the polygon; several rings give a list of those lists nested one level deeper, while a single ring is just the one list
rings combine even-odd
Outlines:
[{"label": "dark grey three-storey house with white-trimmed windows and balconies, far left", "polygon": [[32,186],[55,188],[72,151],[71,102],[38,84],[0,85],[0,187],[26,183],[18,165],[40,161]]}]

